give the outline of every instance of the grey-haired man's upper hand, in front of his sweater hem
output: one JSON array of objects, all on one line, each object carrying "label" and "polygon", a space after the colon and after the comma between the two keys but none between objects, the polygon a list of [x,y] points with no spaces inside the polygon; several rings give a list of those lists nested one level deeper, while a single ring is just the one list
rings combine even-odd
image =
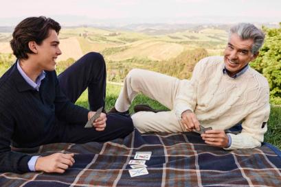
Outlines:
[{"label": "grey-haired man's upper hand, in front of his sweater hem", "polygon": [[181,123],[186,126],[188,131],[192,131],[193,129],[200,131],[200,123],[191,110],[186,110],[181,114]]}]

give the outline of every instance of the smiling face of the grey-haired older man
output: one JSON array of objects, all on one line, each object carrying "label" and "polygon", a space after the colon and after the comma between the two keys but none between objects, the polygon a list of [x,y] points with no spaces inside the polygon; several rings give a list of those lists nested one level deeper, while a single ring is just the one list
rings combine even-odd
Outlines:
[{"label": "smiling face of the grey-haired older man", "polygon": [[251,53],[253,40],[242,40],[238,34],[232,34],[225,49],[225,68],[230,76],[238,73],[251,60],[254,60],[258,54]]}]

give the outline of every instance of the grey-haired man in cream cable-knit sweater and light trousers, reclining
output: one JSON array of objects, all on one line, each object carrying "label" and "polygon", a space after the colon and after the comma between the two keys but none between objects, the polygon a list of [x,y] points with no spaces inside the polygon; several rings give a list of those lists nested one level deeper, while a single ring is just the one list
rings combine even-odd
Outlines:
[{"label": "grey-haired man in cream cable-knit sweater and light trousers, reclining", "polygon": [[[235,25],[224,57],[198,62],[190,81],[133,69],[111,112],[126,112],[135,95],[142,92],[171,111],[155,113],[149,107],[138,107],[142,112],[132,119],[140,132],[185,132],[200,130],[202,125],[212,127],[201,135],[207,144],[225,149],[259,147],[267,132],[269,85],[249,62],[258,56],[264,39],[252,24]],[[225,134],[225,129],[238,123],[243,128],[240,134]]]}]

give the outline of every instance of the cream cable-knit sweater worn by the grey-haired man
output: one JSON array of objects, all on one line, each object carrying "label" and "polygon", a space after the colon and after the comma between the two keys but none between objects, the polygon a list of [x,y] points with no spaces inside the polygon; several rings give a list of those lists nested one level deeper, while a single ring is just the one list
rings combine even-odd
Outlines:
[{"label": "cream cable-knit sweater worn by the grey-haired man", "polygon": [[233,79],[223,74],[223,57],[212,56],[198,62],[190,81],[183,81],[175,99],[179,119],[192,110],[204,127],[229,129],[243,121],[240,134],[229,134],[227,149],[260,147],[269,119],[269,85],[267,79],[252,68]]}]

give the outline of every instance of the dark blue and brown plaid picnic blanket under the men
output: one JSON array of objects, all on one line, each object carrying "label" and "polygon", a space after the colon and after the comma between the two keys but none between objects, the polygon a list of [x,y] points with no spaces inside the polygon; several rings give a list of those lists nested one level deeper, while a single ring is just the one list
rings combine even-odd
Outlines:
[{"label": "dark blue and brown plaid picnic blanket under the men", "polygon": [[[225,151],[206,145],[198,134],[139,134],[124,139],[41,146],[36,155],[76,153],[63,174],[0,173],[0,186],[281,186],[281,152],[264,144]],[[136,151],[152,151],[148,175],[130,177]]]}]

